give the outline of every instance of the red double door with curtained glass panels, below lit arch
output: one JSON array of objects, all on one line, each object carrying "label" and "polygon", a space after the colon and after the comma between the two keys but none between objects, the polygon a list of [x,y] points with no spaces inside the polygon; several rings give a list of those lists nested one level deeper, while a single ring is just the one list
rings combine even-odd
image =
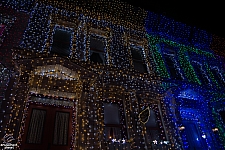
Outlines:
[{"label": "red double door with curtained glass panels, below lit arch", "polygon": [[69,150],[72,109],[31,104],[22,136],[22,150]]}]

